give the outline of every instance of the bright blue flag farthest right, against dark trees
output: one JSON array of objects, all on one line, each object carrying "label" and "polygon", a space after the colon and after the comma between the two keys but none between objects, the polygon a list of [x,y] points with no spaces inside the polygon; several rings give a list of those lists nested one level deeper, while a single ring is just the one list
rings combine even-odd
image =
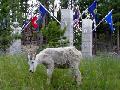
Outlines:
[{"label": "bright blue flag farthest right, against dark trees", "polygon": [[105,21],[109,24],[111,31],[114,32],[115,28],[113,27],[112,10],[105,16]]}]

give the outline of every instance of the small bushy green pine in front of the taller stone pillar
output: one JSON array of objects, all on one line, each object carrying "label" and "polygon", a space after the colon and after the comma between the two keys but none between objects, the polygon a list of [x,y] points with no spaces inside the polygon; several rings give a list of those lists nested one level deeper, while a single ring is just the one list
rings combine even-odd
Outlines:
[{"label": "small bushy green pine in front of the taller stone pillar", "polygon": [[62,30],[55,21],[49,22],[48,26],[41,31],[48,47],[59,47],[67,44],[67,40],[64,37],[65,29]]}]

